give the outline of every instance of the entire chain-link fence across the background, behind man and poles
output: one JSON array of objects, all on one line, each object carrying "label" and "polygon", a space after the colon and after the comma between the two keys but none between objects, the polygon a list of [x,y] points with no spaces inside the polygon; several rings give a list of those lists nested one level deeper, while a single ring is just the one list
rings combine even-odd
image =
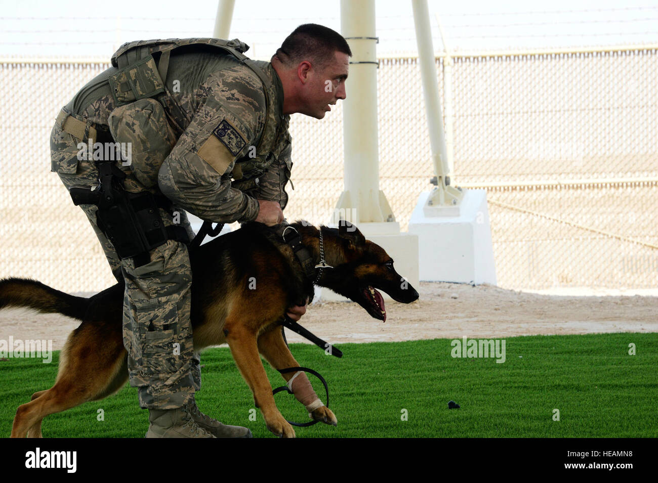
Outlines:
[{"label": "entire chain-link fence across the background, behind man and poles", "polygon": [[[442,57],[442,87],[446,62],[453,184],[488,192],[498,285],[654,288],[658,49]],[[59,109],[108,67],[0,61],[0,277],[71,292],[114,283],[49,159]],[[416,58],[380,60],[378,102],[380,189],[406,230],[434,174]],[[340,104],[324,120],[292,117],[289,220],[328,221],[343,191]]]}]

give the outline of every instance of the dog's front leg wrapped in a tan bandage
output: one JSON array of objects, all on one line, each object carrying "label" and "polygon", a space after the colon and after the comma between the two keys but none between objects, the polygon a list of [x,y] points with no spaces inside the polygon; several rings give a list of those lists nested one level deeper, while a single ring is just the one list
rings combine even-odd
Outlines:
[{"label": "dog's front leg wrapped in a tan bandage", "polygon": [[[290,349],[286,345],[283,334],[281,332],[280,325],[272,325],[268,330],[261,334],[258,338],[258,350],[263,354],[263,357],[274,367],[274,369],[287,369],[288,367],[299,367],[299,363],[295,360],[295,357],[290,352]],[[286,382],[288,382],[295,373],[285,373],[282,374]],[[332,412],[331,409],[322,405],[318,396],[315,394],[311,383],[308,382],[308,379],[305,373],[301,373],[298,377],[301,377],[304,382],[295,381],[295,384],[300,388],[300,392],[295,392],[295,398],[305,405],[307,410],[310,409],[309,415],[316,421],[323,421],[328,425],[336,426],[338,424],[338,419]],[[295,385],[293,385],[295,388]],[[320,406],[318,407],[318,404]]]}]

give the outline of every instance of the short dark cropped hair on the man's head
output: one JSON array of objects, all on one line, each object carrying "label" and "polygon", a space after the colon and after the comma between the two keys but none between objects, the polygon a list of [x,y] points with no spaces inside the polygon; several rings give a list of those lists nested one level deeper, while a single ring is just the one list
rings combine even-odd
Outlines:
[{"label": "short dark cropped hair on the man's head", "polygon": [[286,37],[272,58],[278,57],[288,66],[311,60],[321,68],[334,60],[336,51],[352,55],[347,41],[335,30],[318,24],[303,24]]}]

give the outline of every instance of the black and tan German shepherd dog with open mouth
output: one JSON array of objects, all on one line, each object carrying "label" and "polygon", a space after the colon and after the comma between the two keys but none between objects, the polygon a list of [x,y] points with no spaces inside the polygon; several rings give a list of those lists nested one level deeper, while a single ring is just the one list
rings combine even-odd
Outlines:
[{"label": "black and tan German shepherd dog with open mouth", "polygon": [[[320,230],[324,259],[317,282],[361,305],[372,317],[386,321],[384,300],[377,289],[408,304],[418,298],[393,268],[393,260],[377,244],[367,241],[347,222],[338,229],[297,221],[295,228],[309,250],[314,266],[320,261]],[[288,307],[313,298],[313,281],[304,275],[293,250],[270,227],[245,223],[190,252],[193,273],[191,323],[194,349],[228,343],[242,377],[253,392],[267,428],[293,438],[295,431],[276,407],[262,354],[274,369],[299,366],[280,329]],[[255,290],[249,289],[255,277]],[[122,336],[124,285],[119,283],[91,298],[72,296],[38,281],[0,281],[0,309],[26,307],[63,313],[80,319],[60,354],[55,385],[36,392],[16,410],[12,438],[41,438],[41,421],[88,401],[101,400],[120,390],[128,379]],[[284,374],[286,380],[292,373]],[[313,419],[336,425],[328,407],[318,407]]]}]

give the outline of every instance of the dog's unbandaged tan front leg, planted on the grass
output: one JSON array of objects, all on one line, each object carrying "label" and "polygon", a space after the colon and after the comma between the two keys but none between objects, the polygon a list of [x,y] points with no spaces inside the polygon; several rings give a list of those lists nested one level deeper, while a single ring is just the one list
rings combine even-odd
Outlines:
[{"label": "dog's unbandaged tan front leg, planted on the grass", "polygon": [[294,438],[295,430],[281,415],[274,402],[272,385],[258,354],[256,335],[242,327],[224,325],[226,342],[244,380],[251,388],[256,406],[261,409],[268,430],[280,438]]}]

